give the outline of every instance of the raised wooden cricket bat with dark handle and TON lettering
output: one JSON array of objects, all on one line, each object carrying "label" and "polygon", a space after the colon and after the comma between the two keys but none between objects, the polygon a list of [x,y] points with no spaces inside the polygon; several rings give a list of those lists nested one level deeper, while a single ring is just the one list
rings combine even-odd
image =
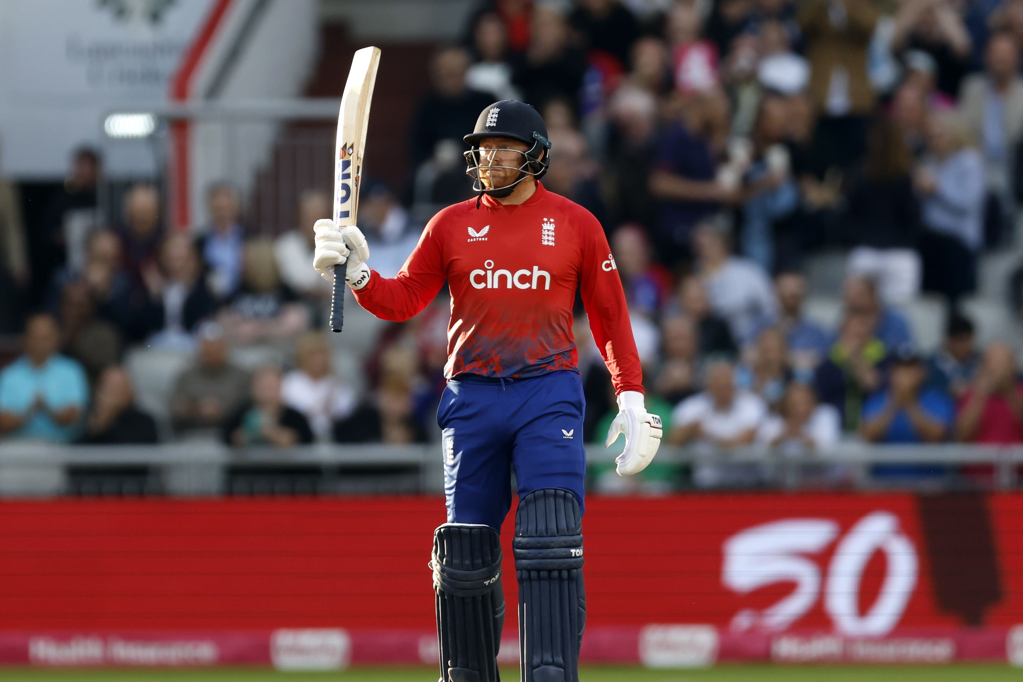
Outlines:
[{"label": "raised wooden cricket bat with dark handle and TON lettering", "polygon": [[[338,113],[338,139],[333,146],[333,224],[339,229],[355,225],[362,180],[362,154],[369,128],[369,103],[373,98],[376,67],[381,62],[379,47],[363,47],[352,57],[352,69],[341,97]],[[345,269],[335,266],[333,293],[330,297],[330,329],[341,331],[345,322]]]}]

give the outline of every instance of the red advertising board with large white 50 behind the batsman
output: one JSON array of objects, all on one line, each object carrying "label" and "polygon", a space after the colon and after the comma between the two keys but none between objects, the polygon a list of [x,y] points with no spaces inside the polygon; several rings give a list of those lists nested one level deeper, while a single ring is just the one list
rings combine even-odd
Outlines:
[{"label": "red advertising board with large white 50 behind the batsman", "polygon": [[[387,637],[405,646],[402,633],[429,648],[443,509],[420,497],[2,502],[0,661],[19,660],[32,633],[331,628],[351,633],[355,661]],[[687,624],[720,633],[719,658],[825,660],[836,642],[930,633],[951,638],[953,657],[1004,661],[1023,623],[1023,495],[593,497],[583,529],[591,660],[642,657],[644,627]],[[260,646],[238,660],[263,661]]]}]

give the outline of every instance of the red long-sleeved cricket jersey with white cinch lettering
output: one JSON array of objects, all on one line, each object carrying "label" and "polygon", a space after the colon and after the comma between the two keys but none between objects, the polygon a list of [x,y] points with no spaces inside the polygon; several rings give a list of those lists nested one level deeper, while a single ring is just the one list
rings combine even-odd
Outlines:
[{"label": "red long-sleeved cricket jersey with white cinch lettering", "polygon": [[615,391],[642,391],[625,292],[601,223],[540,183],[524,203],[484,196],[450,206],[427,224],[393,279],[372,273],[355,299],[376,317],[403,321],[448,281],[448,378],[525,377],[578,371],[572,335],[576,286]]}]

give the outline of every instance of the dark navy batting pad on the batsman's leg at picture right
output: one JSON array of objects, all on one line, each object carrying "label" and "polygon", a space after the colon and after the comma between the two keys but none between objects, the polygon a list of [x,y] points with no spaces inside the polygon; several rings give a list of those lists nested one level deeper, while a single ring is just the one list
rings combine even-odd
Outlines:
[{"label": "dark navy batting pad on the batsman's leg at picture right", "polygon": [[582,514],[570,491],[544,488],[519,502],[519,655],[525,682],[578,682],[586,624]]}]

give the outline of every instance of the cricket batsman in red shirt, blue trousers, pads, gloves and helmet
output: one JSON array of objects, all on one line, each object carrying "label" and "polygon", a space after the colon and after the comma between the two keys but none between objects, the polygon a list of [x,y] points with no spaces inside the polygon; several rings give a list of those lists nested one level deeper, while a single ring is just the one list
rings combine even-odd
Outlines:
[{"label": "cricket batsman in red shirt, blue trousers, pads, gloves and helmet", "polygon": [[572,336],[576,290],[618,395],[621,475],[650,464],[661,419],[643,407],[639,357],[615,259],[597,220],[544,189],[550,142],[529,104],[483,110],[464,137],[479,192],[427,224],[394,278],[366,264],[358,227],[315,225],[314,267],[327,280],[345,266],[356,301],[386,320],[407,320],[448,282],[443,429],[447,524],[434,534],[441,682],[497,682],[504,625],[501,522],[519,493],[515,563],[522,680],[577,682],[586,621],[582,580],[583,394]]}]

